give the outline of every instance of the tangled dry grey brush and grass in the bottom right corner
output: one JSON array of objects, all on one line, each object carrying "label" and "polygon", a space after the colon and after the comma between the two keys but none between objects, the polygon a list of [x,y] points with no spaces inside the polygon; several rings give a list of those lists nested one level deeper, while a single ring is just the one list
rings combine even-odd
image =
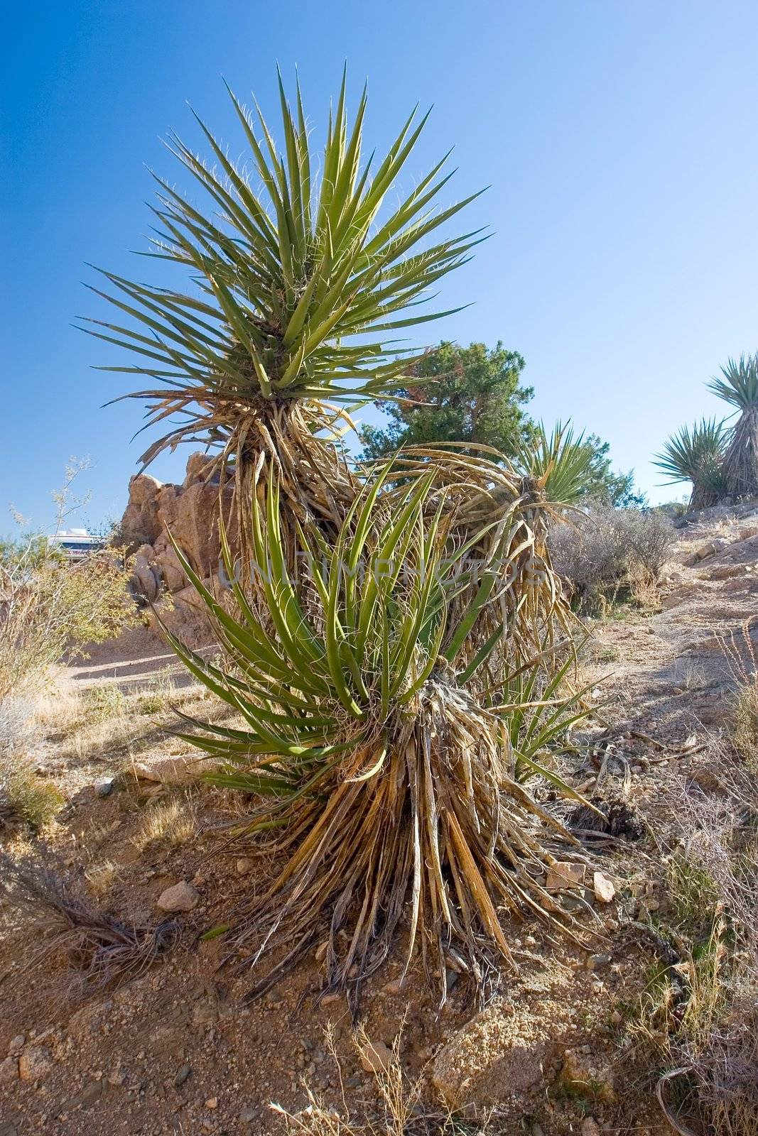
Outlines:
[{"label": "tangled dry grey brush and grass in the bottom right corner", "polygon": [[[633,1037],[668,1069],[658,1099],[674,1131],[758,1134],[758,790],[714,743],[717,792],[682,784],[667,863],[669,937]],[[666,928],[661,928],[666,930]]]}]

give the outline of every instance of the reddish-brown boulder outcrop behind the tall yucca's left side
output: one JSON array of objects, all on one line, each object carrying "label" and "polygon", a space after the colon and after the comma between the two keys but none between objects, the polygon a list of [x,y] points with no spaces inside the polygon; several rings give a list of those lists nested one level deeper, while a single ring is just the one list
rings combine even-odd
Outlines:
[{"label": "reddish-brown boulder outcrop behind the tall yucca's left side", "polygon": [[[198,575],[215,590],[220,552],[220,485],[217,476],[210,476],[210,461],[203,453],[192,453],[181,485],[163,484],[148,474],[132,477],[120,524],[124,543],[136,550],[131,578],[134,595],[155,604],[166,626],[190,646],[209,643],[213,635],[202,603],[189,586],[168,534]],[[233,541],[231,487],[223,491],[223,508]]]}]

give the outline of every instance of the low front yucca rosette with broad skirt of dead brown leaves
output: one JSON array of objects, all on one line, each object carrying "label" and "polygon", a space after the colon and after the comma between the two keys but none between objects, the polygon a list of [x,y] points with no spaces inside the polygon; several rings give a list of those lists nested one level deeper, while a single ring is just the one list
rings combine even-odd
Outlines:
[{"label": "low front yucca rosette with broad skirt of dead brown leaves", "polygon": [[183,736],[225,763],[215,782],[255,794],[243,830],[272,833],[258,851],[284,858],[232,919],[235,951],[283,951],[252,994],[326,935],[325,991],[348,991],[355,1008],[406,914],[408,958],[418,944],[444,999],[445,962],[481,987],[510,958],[502,913],[564,919],[541,879],[549,842],[572,855],[572,838],[516,778],[507,719],[472,694],[486,648],[456,662],[482,600],[468,588],[451,618],[467,549],[451,557],[442,508],[427,515],[434,478],[432,468],[389,510],[382,477],[363,491],[334,549],[314,549],[309,605],[286,567],[275,485],[265,520],[253,515],[265,612],[240,592],[244,618],[231,617],[183,561],[235,666],[172,645],[243,724],[188,719]]}]

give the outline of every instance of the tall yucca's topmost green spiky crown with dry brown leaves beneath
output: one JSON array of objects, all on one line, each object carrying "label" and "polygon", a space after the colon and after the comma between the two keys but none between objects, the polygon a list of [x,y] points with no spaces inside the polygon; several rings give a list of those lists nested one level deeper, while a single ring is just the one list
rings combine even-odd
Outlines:
[{"label": "tall yucca's topmost green spiky crown with dry brown leaves beneath", "polygon": [[143,465],[199,441],[235,473],[242,536],[244,503],[270,468],[300,520],[336,529],[357,484],[323,432],[339,433],[347,408],[391,398],[402,384],[415,358],[398,332],[450,314],[419,315],[417,306],[483,237],[430,237],[477,194],[435,208],[451,176],[442,173],[445,156],[385,207],[427,115],[417,120],[414,111],[386,156],[364,161],[366,92],[350,123],[344,75],[320,162],[299,86],[293,110],[280,76],[281,151],[257,103],[255,123],[230,94],[248,149],[242,162],[199,118],[215,165],[175,135],[168,143],[211,208],[157,178],[158,227],[147,254],[181,266],[184,283],[169,289],[105,273],[111,291],[93,291],[128,320],[90,319],[89,329],[135,357],[102,369],[159,381],[125,395],[145,401],[143,428],[173,423]]}]

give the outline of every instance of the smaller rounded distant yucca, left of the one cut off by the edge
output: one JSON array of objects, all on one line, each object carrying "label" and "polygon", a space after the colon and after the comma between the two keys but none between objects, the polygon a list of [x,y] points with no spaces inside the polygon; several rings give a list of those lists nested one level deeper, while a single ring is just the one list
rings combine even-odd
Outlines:
[{"label": "smaller rounded distant yucca, left of the one cut off by the edge", "polygon": [[672,434],[653,465],[669,482],[691,482],[691,509],[707,509],[726,492],[723,466],[728,432],[723,421],[702,418]]}]

